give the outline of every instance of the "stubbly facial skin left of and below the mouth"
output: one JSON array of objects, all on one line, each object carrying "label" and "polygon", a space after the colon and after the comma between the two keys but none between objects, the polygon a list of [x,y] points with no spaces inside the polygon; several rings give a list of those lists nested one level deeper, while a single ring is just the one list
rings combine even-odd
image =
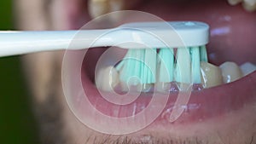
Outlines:
[{"label": "stubbly facial skin left of and below the mouth", "polygon": [[[47,1],[48,2],[48,1]],[[53,0],[47,3],[44,0],[17,0],[15,1],[15,16],[17,28],[20,30],[63,30],[67,28],[67,19],[61,4],[66,0]],[[65,101],[61,88],[61,62],[64,52],[44,52],[32,55],[23,55],[22,62],[28,86],[31,89],[32,105],[39,124],[39,133],[42,143],[232,143],[236,139],[241,143],[256,142],[255,123],[247,119],[234,119],[237,134],[232,135],[230,129],[222,129],[221,125],[215,125],[212,133],[186,135],[186,132],[174,130],[158,131],[148,128],[139,135],[139,141],[132,139],[137,133],[130,135],[104,135],[90,130],[70,111]],[[253,107],[255,110],[255,107]],[[253,111],[255,112],[255,111]],[[247,113],[245,113],[247,117]],[[247,122],[248,128],[242,130],[239,126],[241,120]],[[232,125],[230,124],[230,128]],[[208,127],[207,127],[208,128]],[[155,128],[154,128],[155,129]],[[219,133],[218,133],[218,132]],[[247,131],[245,133],[245,131]],[[161,135],[163,133],[170,135]],[[183,136],[180,134],[183,133]],[[177,134],[177,135],[176,135]],[[232,135],[235,140],[227,140],[225,136]],[[232,137],[232,136],[229,136]],[[148,138],[150,139],[148,141]],[[232,139],[232,138],[230,138]]]}]

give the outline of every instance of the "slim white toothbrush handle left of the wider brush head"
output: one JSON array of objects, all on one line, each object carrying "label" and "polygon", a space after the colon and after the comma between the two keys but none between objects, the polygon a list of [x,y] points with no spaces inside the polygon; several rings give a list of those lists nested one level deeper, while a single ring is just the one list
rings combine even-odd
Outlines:
[{"label": "slim white toothbrush handle left of the wider brush head", "polygon": [[[106,31],[2,31],[0,32],[0,56],[58,49],[86,49]],[[111,43],[111,37],[103,37],[98,39],[94,46],[107,46]],[[70,44],[72,48],[69,47]]]}]

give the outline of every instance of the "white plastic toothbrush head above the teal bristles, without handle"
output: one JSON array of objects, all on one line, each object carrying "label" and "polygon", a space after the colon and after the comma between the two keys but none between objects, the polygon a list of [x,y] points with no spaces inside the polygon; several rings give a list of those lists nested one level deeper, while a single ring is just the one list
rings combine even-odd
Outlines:
[{"label": "white plastic toothbrush head above the teal bristles, without handle", "polygon": [[[119,45],[125,49],[177,48],[209,42],[209,26],[199,21],[129,23],[119,26],[116,34],[119,42],[131,41]],[[147,48],[143,47],[144,44]]]}]

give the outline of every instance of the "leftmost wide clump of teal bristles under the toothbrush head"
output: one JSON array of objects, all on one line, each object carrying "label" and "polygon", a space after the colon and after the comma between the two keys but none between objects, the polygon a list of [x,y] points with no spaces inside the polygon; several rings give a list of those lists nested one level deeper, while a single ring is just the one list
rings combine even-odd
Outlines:
[{"label": "leftmost wide clump of teal bristles under the toothbrush head", "polygon": [[[140,79],[141,84],[154,84],[156,73],[156,49],[129,49],[116,69],[121,82],[128,83],[130,78]],[[137,85],[138,81],[129,82]]]}]

